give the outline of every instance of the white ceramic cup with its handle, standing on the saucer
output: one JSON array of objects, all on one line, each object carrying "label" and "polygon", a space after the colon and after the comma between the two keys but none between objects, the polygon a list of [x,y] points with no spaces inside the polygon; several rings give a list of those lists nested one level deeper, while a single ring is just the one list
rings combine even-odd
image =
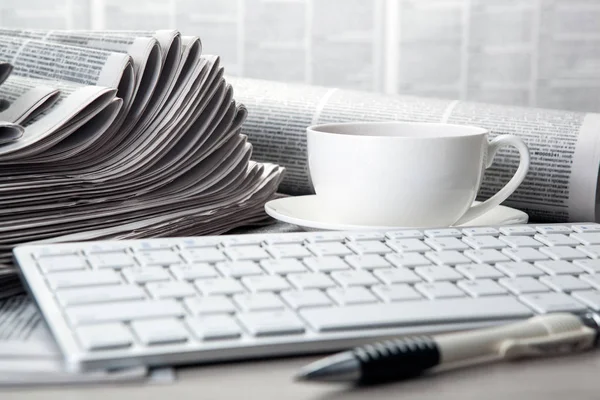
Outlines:
[{"label": "white ceramic cup with its handle, standing on the saucer", "polygon": [[[460,225],[498,206],[529,170],[512,135],[488,143],[483,128],[442,123],[356,122],[307,129],[308,166],[320,204],[338,223],[395,227]],[[520,164],[488,200],[473,205],[496,151],[514,146]]]}]

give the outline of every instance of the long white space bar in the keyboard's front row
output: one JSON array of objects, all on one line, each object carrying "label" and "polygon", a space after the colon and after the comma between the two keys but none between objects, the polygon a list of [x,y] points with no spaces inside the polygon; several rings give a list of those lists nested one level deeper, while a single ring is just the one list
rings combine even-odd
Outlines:
[{"label": "long white space bar in the keyboard's front row", "polygon": [[403,303],[309,308],[302,317],[319,332],[526,318],[533,312],[514,297],[490,296]]}]

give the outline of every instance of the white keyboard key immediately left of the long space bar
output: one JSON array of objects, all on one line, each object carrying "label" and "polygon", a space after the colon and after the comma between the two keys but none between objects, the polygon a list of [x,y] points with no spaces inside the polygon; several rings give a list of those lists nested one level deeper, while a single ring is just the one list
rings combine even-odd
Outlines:
[{"label": "white keyboard key immediately left of the long space bar", "polygon": [[238,318],[253,336],[288,335],[305,331],[302,321],[289,311],[241,313]]}]

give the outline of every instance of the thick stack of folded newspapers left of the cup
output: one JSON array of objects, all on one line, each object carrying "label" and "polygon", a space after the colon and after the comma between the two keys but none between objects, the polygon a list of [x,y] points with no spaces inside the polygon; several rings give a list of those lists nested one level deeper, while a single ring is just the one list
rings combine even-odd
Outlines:
[{"label": "thick stack of folded newspapers left of the cup", "polygon": [[20,243],[262,223],[283,169],[250,159],[223,74],[176,30],[0,29],[0,295]]}]

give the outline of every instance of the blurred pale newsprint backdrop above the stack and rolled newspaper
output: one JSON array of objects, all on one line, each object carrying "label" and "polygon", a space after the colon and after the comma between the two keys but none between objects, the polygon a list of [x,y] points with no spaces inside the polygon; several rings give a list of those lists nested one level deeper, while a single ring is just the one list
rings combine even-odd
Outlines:
[{"label": "blurred pale newsprint backdrop above the stack and rolled newspaper", "polygon": [[176,28],[229,75],[600,112],[600,0],[0,0],[0,25]]}]

